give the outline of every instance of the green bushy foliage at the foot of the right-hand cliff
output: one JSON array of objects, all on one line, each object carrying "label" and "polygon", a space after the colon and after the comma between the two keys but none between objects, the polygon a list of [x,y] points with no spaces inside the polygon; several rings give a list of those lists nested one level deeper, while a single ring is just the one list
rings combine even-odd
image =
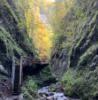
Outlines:
[{"label": "green bushy foliage at the foot of the right-hand cliff", "polygon": [[93,100],[98,95],[98,68],[94,71],[69,69],[62,78],[65,93],[82,100]]}]

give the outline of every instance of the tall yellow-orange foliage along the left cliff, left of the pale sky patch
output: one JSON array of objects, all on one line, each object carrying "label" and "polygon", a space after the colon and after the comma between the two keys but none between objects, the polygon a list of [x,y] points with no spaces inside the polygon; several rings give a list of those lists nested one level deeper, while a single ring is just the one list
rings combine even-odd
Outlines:
[{"label": "tall yellow-orange foliage along the left cliff, left of the pale sky patch", "polygon": [[25,18],[29,36],[32,38],[40,59],[48,59],[52,47],[52,31],[40,19],[40,0],[25,0]]}]

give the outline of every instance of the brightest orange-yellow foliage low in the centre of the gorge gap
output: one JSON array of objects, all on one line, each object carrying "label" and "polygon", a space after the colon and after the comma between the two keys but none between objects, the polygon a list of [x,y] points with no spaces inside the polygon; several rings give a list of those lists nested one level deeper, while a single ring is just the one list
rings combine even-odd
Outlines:
[{"label": "brightest orange-yellow foliage low in the centre of the gorge gap", "polygon": [[38,50],[39,57],[46,59],[51,51],[53,33],[40,21],[39,23],[37,22],[33,34],[35,47]]}]

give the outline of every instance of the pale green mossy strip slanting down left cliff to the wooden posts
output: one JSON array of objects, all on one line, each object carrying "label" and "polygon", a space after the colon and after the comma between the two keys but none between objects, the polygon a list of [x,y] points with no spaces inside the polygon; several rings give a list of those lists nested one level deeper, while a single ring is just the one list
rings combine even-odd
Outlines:
[{"label": "pale green mossy strip slanting down left cliff to the wooden posts", "polygon": [[0,40],[4,42],[8,56],[13,56],[13,50],[16,50],[18,54],[23,53],[22,49],[20,49],[17,43],[12,39],[10,33],[3,27],[0,27]]}]

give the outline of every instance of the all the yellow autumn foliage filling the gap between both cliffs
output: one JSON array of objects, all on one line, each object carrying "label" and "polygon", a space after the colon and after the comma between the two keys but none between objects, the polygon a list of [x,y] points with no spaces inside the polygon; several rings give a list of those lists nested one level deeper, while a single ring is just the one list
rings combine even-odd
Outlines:
[{"label": "all the yellow autumn foliage filling the gap between both cliffs", "polygon": [[[51,1],[51,0],[50,0]],[[73,6],[74,0],[61,2],[50,2],[49,0],[24,0],[24,13],[26,18],[27,32],[33,40],[36,52],[40,59],[49,58],[52,48],[53,32],[49,25],[46,25],[40,18],[41,10],[47,14],[48,21],[52,28],[59,29],[60,20],[68,13]],[[53,10],[49,10],[53,7]],[[61,33],[59,33],[61,34]]]}]

